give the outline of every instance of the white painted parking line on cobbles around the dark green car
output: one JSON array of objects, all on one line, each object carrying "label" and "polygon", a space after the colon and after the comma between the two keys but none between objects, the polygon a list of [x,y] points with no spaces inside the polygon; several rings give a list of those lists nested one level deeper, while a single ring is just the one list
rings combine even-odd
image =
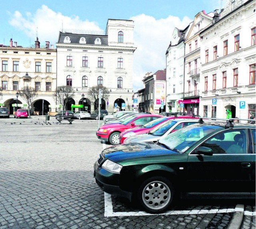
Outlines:
[{"label": "white painted parking line on cobbles around the dark green car", "polygon": [[[106,148],[106,142],[102,141],[102,148],[103,150]],[[104,192],[104,199],[105,199],[105,217],[118,217],[118,216],[142,216],[142,215],[156,215],[150,214],[146,211],[128,211],[128,212],[113,212],[113,205],[111,195]],[[184,211],[166,211],[165,213],[161,213],[158,215],[190,215],[190,214],[216,214],[216,213],[230,213],[236,211],[243,211],[244,215],[256,215],[256,212],[251,211],[244,211],[244,209],[236,206],[236,208],[228,208],[228,209],[210,209],[210,210],[184,210]]]}]

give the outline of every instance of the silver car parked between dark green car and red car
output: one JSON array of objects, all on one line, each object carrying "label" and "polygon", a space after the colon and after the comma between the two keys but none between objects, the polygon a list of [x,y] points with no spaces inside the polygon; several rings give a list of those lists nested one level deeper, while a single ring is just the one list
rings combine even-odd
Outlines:
[{"label": "silver car parked between dark green car and red car", "polygon": [[[162,122],[160,125],[154,127],[152,130],[145,134],[134,134],[132,136],[132,134],[128,132],[128,135],[126,138],[124,138],[121,144],[128,144],[132,142],[156,142],[157,140],[166,137],[168,134],[173,133],[176,130],[180,130],[181,128],[195,124],[198,122],[198,120],[198,118],[168,119],[166,122]],[[121,134],[124,132],[125,131],[123,131]]]}]

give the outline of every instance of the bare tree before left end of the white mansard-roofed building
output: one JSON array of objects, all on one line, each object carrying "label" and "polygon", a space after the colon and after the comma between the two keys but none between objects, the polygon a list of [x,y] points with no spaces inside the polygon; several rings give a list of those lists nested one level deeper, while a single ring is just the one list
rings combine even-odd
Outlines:
[{"label": "bare tree before left end of the white mansard-roofed building", "polygon": [[75,96],[75,93],[73,87],[63,85],[58,86],[52,96],[62,105],[63,109],[66,110],[66,104]]}]

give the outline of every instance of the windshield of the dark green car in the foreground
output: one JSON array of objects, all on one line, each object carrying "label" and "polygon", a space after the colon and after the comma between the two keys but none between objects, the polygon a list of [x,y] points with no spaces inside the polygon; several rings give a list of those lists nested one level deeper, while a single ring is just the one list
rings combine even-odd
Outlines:
[{"label": "windshield of the dark green car in the foreground", "polygon": [[175,152],[184,153],[200,139],[214,132],[217,128],[220,127],[191,125],[160,139],[158,144]]}]

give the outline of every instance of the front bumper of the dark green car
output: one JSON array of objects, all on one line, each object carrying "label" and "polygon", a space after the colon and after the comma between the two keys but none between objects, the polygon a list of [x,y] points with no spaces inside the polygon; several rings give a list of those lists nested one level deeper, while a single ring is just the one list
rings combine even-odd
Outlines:
[{"label": "front bumper of the dark green car", "polygon": [[132,193],[122,190],[119,184],[119,174],[108,172],[104,168],[98,167],[97,162],[94,164],[94,178],[98,186],[106,193],[118,195],[132,200]]}]

